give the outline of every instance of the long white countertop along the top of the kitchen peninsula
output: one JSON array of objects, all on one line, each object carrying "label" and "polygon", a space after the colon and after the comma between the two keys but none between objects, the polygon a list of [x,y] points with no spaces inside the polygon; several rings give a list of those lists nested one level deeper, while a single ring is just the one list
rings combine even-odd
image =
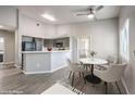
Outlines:
[{"label": "long white countertop along the top of the kitchen peninsula", "polygon": [[22,53],[57,53],[57,52],[70,52],[70,50],[58,50],[58,51],[22,51]]}]

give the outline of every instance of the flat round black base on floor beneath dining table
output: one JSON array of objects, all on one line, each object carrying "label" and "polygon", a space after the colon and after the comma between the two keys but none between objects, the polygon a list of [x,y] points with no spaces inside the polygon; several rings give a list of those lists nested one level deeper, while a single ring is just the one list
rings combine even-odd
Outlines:
[{"label": "flat round black base on floor beneath dining table", "polygon": [[86,79],[87,81],[91,83],[91,84],[99,84],[99,83],[101,83],[101,79],[98,78],[98,77],[95,76],[95,75],[87,75],[87,76],[85,76],[85,79]]}]

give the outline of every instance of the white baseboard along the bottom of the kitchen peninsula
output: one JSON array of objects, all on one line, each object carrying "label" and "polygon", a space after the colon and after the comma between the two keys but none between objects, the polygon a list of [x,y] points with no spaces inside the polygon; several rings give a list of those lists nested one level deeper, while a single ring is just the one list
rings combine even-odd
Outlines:
[{"label": "white baseboard along the bottom of the kitchen peninsula", "polygon": [[64,67],[66,67],[66,65],[60,66],[60,67],[58,67],[56,70],[52,70],[52,71],[46,71],[46,72],[25,72],[25,71],[23,71],[23,73],[26,74],[26,75],[27,74],[47,74],[47,73],[54,73],[54,72],[57,72],[61,68],[64,68]]}]

